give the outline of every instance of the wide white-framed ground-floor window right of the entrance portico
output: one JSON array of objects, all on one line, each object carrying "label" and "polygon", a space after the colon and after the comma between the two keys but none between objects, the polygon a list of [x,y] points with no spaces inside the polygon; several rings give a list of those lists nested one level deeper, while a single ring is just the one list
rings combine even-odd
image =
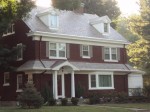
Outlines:
[{"label": "wide white-framed ground-floor window right of the entrance portico", "polygon": [[89,74],[89,89],[114,89],[113,73]]}]

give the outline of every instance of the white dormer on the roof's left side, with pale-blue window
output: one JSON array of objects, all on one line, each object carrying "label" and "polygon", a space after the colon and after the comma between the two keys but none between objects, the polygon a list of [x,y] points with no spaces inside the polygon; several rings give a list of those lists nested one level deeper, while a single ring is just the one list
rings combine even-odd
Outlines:
[{"label": "white dormer on the roof's left side, with pale-blue window", "polygon": [[37,14],[39,19],[50,29],[58,30],[59,28],[59,11],[49,8]]}]

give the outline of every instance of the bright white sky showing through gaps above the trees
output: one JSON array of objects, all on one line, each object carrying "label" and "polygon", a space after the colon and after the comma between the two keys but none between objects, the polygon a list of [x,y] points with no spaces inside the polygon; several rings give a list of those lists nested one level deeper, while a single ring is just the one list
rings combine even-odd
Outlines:
[{"label": "bright white sky showing through gaps above the trees", "polygon": [[[136,2],[138,0],[116,0],[118,6],[122,12],[122,15],[129,16],[134,13],[138,13],[139,6]],[[51,5],[50,0],[36,0],[36,4],[39,6],[49,7]]]}]

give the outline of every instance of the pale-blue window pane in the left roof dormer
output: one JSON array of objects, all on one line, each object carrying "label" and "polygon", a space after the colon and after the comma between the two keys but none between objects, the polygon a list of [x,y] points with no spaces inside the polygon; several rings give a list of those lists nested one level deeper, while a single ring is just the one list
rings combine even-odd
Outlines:
[{"label": "pale-blue window pane in the left roof dormer", "polygon": [[58,16],[57,15],[51,15],[50,18],[50,28],[58,28]]}]

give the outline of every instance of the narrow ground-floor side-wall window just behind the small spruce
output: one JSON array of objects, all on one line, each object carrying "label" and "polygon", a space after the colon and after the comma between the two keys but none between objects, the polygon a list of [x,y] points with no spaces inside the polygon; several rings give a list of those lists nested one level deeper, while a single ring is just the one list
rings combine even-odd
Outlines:
[{"label": "narrow ground-floor side-wall window just behind the small spruce", "polygon": [[16,92],[22,92],[23,89],[23,76],[22,74],[17,75],[17,91]]}]

